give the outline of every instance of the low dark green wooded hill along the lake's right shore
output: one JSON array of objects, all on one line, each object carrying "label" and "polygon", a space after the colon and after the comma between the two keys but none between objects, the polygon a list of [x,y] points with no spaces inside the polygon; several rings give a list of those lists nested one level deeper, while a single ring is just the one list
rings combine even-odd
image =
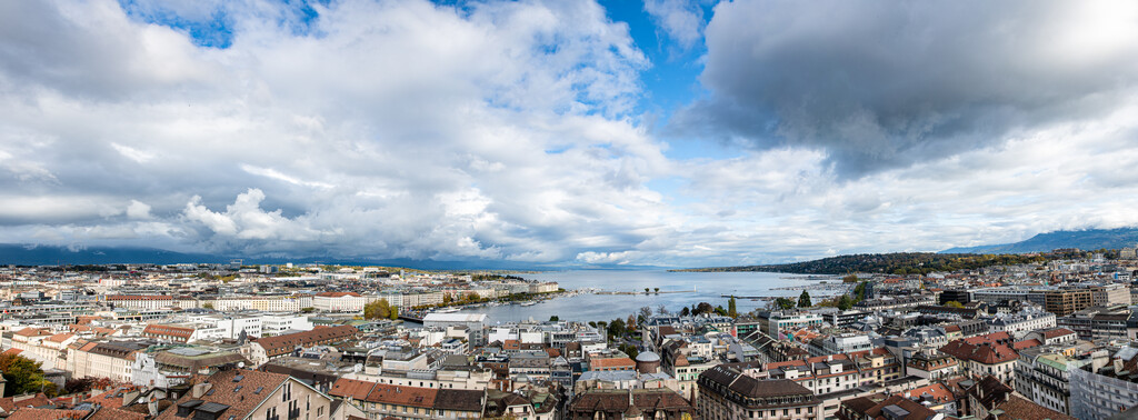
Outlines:
[{"label": "low dark green wooded hill along the lake's right shore", "polygon": [[795,274],[927,274],[934,271],[946,272],[956,270],[974,270],[992,265],[1042,263],[1053,257],[1059,257],[1059,255],[1028,256],[934,253],[857,254],[789,264],[721,266],[673,271],[765,271]]}]

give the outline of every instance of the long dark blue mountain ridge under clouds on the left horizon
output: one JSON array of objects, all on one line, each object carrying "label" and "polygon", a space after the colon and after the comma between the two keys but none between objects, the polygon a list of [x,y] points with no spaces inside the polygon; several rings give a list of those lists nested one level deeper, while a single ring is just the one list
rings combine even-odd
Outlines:
[{"label": "long dark blue mountain ridge under clouds on the left horizon", "polygon": [[[157,248],[141,247],[82,247],[69,248],[48,245],[0,244],[0,265],[56,265],[56,264],[180,264],[180,263],[229,263],[241,258],[246,265],[257,264],[332,264],[332,265],[381,265],[419,270],[564,270],[566,266],[519,263],[513,261],[472,260],[472,261],[435,261],[413,258],[341,258],[330,256],[307,257],[250,257],[241,255],[213,255],[178,253]],[[634,270],[653,269],[650,266],[592,265],[574,269]]]}]

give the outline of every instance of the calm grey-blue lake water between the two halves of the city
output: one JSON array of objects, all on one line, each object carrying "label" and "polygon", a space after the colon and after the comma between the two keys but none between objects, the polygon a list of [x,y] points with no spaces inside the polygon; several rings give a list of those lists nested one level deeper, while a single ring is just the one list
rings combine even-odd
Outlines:
[{"label": "calm grey-blue lake water between the two halves of the city", "polygon": [[[461,313],[485,313],[489,315],[490,324],[498,322],[549,320],[558,315],[562,320],[572,321],[609,321],[617,316],[627,318],[643,306],[653,311],[665,305],[670,312],[678,312],[684,306],[700,302],[712,306],[727,307],[727,298],[735,296],[787,296],[798,298],[802,289],[773,290],[774,288],[807,287],[817,285],[819,280],[809,280],[803,275],[785,273],[688,273],[659,271],[622,271],[622,270],[580,270],[559,271],[520,277],[542,281],[556,281],[566,290],[596,288],[608,291],[641,291],[641,295],[600,295],[582,294],[559,297],[533,306],[494,306],[460,311]],[[827,282],[841,282],[841,279],[827,279]],[[676,294],[643,295],[644,288],[660,288],[660,291],[684,291]],[[694,293],[692,291],[694,288]],[[810,290],[815,300],[832,295],[831,290]],[[736,298],[740,313],[765,307],[766,302]]]}]

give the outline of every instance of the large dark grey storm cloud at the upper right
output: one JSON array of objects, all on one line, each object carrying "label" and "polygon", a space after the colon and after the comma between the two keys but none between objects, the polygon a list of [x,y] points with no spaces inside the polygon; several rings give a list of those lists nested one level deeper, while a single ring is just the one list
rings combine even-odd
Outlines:
[{"label": "large dark grey storm cloud at the upper right", "polygon": [[673,126],[824,149],[846,176],[1104,114],[1133,94],[1119,2],[736,1],[707,27],[711,91]]}]

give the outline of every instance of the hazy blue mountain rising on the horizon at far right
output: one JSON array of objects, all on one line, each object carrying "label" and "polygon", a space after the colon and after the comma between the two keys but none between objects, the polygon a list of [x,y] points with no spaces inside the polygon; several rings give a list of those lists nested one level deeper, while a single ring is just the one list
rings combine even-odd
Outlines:
[{"label": "hazy blue mountain rising on the horizon at far right", "polygon": [[1082,250],[1121,249],[1138,244],[1138,228],[1059,230],[1039,233],[1030,239],[1015,244],[982,245],[976,247],[956,247],[940,252],[941,254],[1024,254],[1044,253],[1059,248],[1079,248]]}]

